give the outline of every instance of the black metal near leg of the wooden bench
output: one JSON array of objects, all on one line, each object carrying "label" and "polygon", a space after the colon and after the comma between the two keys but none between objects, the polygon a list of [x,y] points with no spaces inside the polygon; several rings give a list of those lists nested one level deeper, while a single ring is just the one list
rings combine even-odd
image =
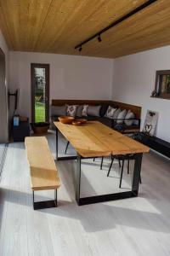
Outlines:
[{"label": "black metal near leg of the wooden bench", "polygon": [[54,200],[35,201],[34,191],[32,191],[32,199],[34,210],[57,207],[57,189],[54,190]]}]

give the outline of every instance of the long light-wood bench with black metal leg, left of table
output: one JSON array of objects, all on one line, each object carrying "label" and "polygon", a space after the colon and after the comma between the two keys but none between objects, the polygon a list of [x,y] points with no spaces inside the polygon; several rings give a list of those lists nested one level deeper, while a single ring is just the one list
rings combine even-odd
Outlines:
[{"label": "long light-wood bench with black metal leg, left of table", "polygon": [[[30,165],[34,210],[57,207],[57,189],[60,186],[60,179],[46,137],[26,137],[25,145]],[[54,189],[54,201],[35,202],[34,191],[47,189]]]}]

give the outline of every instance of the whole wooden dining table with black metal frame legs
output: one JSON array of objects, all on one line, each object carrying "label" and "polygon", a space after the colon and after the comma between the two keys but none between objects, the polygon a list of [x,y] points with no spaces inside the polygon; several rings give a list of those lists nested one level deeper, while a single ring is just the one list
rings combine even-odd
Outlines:
[{"label": "whole wooden dining table with black metal frame legs", "polygon": [[[150,148],[98,121],[88,121],[84,125],[66,125],[54,122],[54,125],[56,127],[56,160],[77,160],[75,190],[79,206],[138,196],[142,156],[143,153],[149,152]],[[77,155],[59,157],[59,132],[75,148]],[[81,197],[81,160],[122,154],[134,154],[132,190]]]}]

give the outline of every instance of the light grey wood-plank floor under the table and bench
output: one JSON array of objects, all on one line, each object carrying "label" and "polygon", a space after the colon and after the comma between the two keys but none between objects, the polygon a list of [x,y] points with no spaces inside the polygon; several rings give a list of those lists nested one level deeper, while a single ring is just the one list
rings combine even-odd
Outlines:
[{"label": "light grey wood-plank floor under the table and bench", "polygon": [[[54,154],[54,135],[48,136],[48,142]],[[59,144],[63,152],[64,143]],[[110,160],[105,160],[103,171],[99,170],[99,160],[86,161],[82,195],[96,195],[104,188],[109,192],[120,173],[117,163],[107,178],[108,186],[105,182],[99,186]],[[62,182],[59,207],[33,211],[24,143],[9,145],[0,183],[1,256],[170,255],[169,160],[153,153],[144,155],[138,198],[83,207],[75,202],[74,161],[57,166]],[[123,187],[131,183],[130,177],[125,172]],[[53,191],[37,194],[37,200],[54,196]]]}]

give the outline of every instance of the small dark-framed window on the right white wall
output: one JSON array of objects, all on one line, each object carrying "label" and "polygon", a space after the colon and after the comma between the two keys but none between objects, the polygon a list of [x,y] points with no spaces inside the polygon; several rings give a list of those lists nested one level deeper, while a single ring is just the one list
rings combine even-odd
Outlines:
[{"label": "small dark-framed window on the right white wall", "polygon": [[156,97],[170,99],[170,70],[156,71]]}]

